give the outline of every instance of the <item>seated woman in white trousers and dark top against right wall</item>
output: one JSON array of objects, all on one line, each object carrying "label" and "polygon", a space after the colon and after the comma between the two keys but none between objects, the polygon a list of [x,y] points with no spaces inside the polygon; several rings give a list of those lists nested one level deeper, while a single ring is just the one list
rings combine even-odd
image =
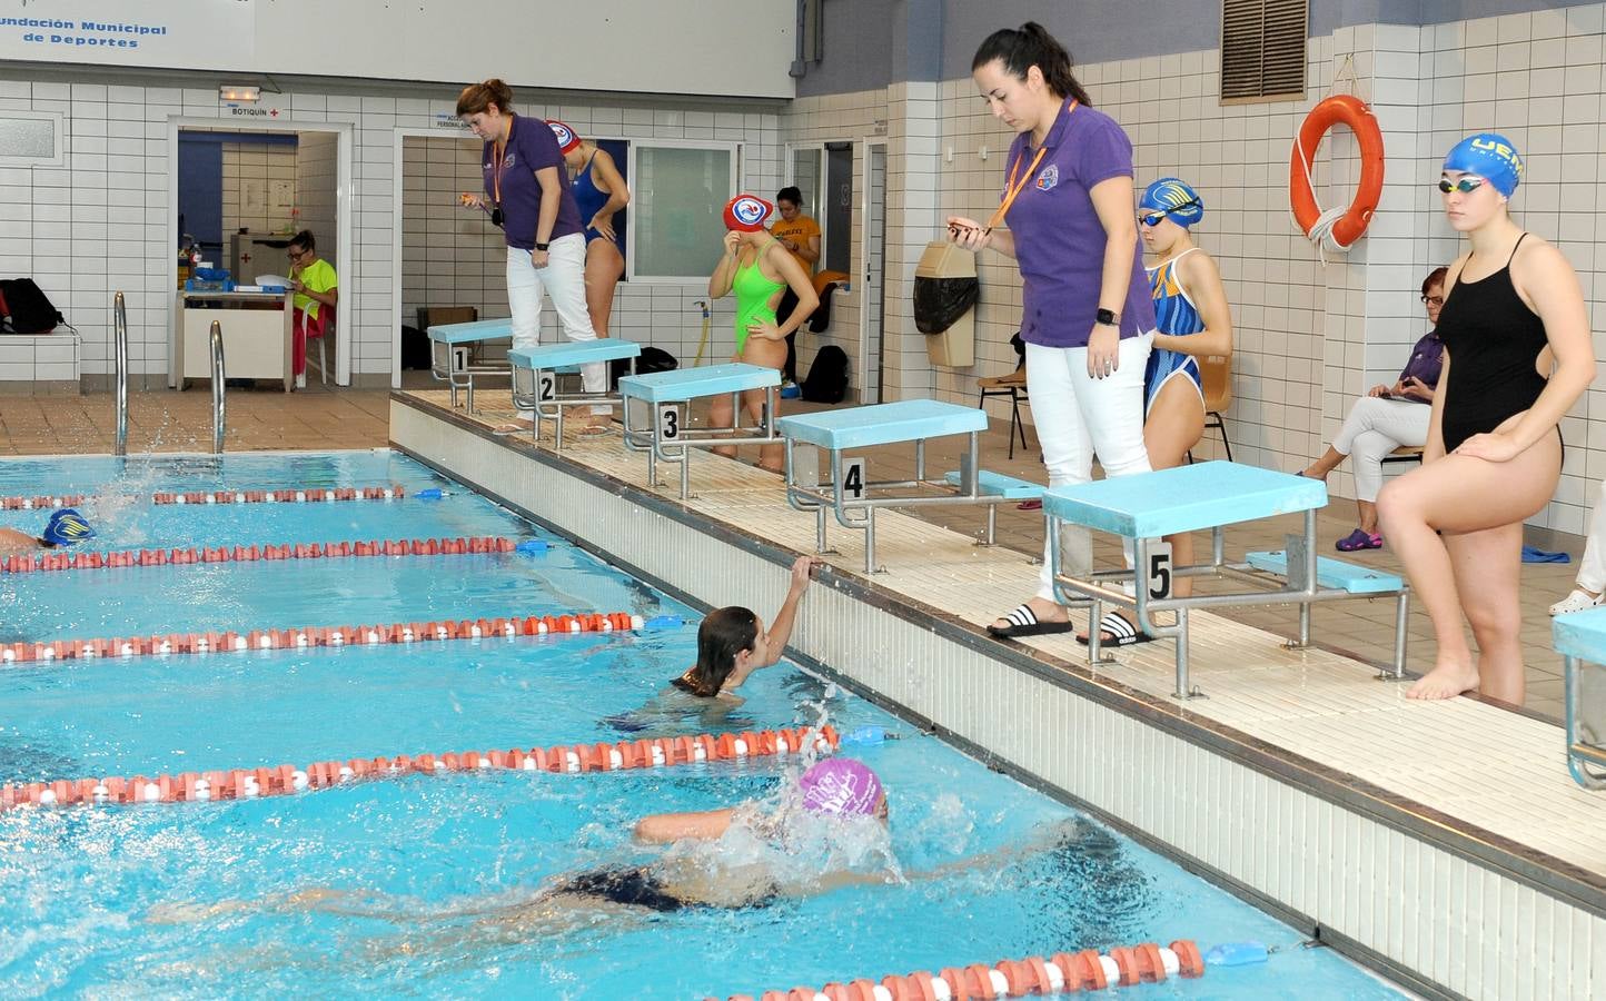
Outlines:
[{"label": "seated woman in white trousers and dark top against right wall", "polygon": [[[1436,268],[1421,283],[1421,304],[1428,308],[1428,333],[1410,350],[1410,362],[1400,370],[1394,386],[1373,386],[1355,400],[1338,437],[1327,453],[1299,476],[1327,480],[1346,456],[1355,456],[1355,508],[1360,527],[1335,543],[1339,553],[1381,550],[1378,533],[1378,492],[1383,490],[1383,460],[1400,445],[1428,443],[1428,418],[1433,395],[1444,366],[1444,342],[1439,341],[1439,308],[1444,307],[1444,278],[1449,268]],[[1426,407],[1425,407],[1426,405]]]}]

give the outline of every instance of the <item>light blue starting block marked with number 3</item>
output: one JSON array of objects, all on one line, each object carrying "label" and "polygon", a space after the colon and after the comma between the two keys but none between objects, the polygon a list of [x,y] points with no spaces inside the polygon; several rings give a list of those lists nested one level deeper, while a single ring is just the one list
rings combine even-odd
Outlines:
[{"label": "light blue starting block marked with number 3", "polygon": [[[625,407],[625,447],[647,453],[647,482],[658,484],[658,463],[681,468],[681,500],[691,496],[692,448],[768,445],[776,440],[776,394],[781,373],[766,365],[729,362],[676,368],[618,381]],[[763,392],[756,427],[742,426],[742,394]],[[692,400],[731,395],[731,427],[692,427]]]}]

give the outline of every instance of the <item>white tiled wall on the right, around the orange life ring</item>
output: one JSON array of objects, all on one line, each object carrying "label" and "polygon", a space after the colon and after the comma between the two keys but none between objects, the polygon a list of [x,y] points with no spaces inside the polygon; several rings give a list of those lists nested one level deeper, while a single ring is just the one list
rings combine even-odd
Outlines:
[{"label": "white tiled wall on the right, around the orange life ring", "polygon": [[[1561,246],[1592,313],[1600,313],[1606,296],[1606,247],[1596,243],[1600,212],[1606,212],[1606,188],[1596,180],[1606,167],[1603,11],[1603,5],[1580,5],[1420,29],[1341,29],[1310,39],[1302,101],[1222,106],[1214,50],[1078,67],[1095,104],[1132,137],[1139,186],[1176,174],[1206,199],[1195,235],[1221,265],[1237,329],[1235,402],[1227,415],[1235,458],[1304,468],[1331,440],[1352,400],[1397,374],[1408,345],[1426,331],[1416,300],[1421,280],[1460,252],[1431,185],[1441,157],[1463,135],[1494,129],[1524,153],[1516,219]],[[1351,76],[1354,84],[1347,84]],[[1304,116],[1338,77],[1346,80],[1339,90],[1354,90],[1378,116],[1386,175],[1365,239],[1323,264],[1290,220],[1288,157]],[[935,93],[927,96],[927,87]],[[784,116],[782,133],[797,141],[851,140],[877,121],[887,121],[895,165],[888,398],[935,395],[968,403],[976,378],[1015,366],[1007,345],[1020,318],[1013,264],[991,254],[978,260],[981,304],[970,370],[935,370],[925,362],[907,283],[920,246],[941,235],[941,217],[986,215],[997,204],[1012,137],[986,114],[968,79],[801,100]],[[1323,204],[1347,201],[1357,175],[1355,141],[1335,130],[1315,170]],[[1596,353],[1606,357],[1600,334]],[[1606,476],[1606,382],[1579,402],[1563,431],[1569,448],[1561,485],[1534,524],[1582,532],[1588,485]],[[1219,448],[1206,437],[1200,453],[1219,455]],[[1330,487],[1354,495],[1347,471]]]}]

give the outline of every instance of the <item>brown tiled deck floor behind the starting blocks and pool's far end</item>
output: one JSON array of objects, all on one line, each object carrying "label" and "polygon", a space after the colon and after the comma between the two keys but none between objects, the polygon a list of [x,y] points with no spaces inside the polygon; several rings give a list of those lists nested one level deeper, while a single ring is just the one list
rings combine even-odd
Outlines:
[{"label": "brown tiled deck floor behind the starting blocks and pool's far end", "polygon": [[[424,381],[427,386],[427,378]],[[284,394],[270,389],[234,389],[228,394],[228,450],[275,448],[374,448],[387,443],[389,390],[329,390],[312,386],[307,390]],[[498,400],[495,390],[482,395],[483,402]],[[201,386],[188,392],[135,392],[128,397],[128,450],[140,451],[206,451],[212,447],[212,397]],[[808,405],[787,403],[789,410]],[[0,455],[66,455],[111,451],[114,434],[112,398],[109,394],[82,397],[0,397]],[[1036,453],[1036,437],[1029,435],[1031,448],[1020,448],[1015,458],[1007,458],[1004,427],[996,423],[983,443],[983,464],[988,469],[1044,482],[1046,474]],[[935,443],[930,455],[933,469],[957,468],[959,443]],[[872,472],[878,479],[909,476],[912,456],[907,450],[880,448],[866,451]],[[1319,537],[1323,545],[1354,529],[1354,506],[1347,500],[1335,500],[1322,513]],[[956,532],[978,533],[984,514],[980,508],[956,506],[914,511],[915,516]],[[1298,530],[1298,519],[1261,522],[1232,529],[1227,533],[1229,551],[1275,550],[1282,546],[1286,532]],[[1001,506],[997,519],[999,543],[1021,553],[1037,553],[1042,545],[1042,514]],[[1201,540],[1203,541],[1203,540]],[[1558,540],[1543,540],[1558,546]],[[1561,548],[1577,556],[1582,540],[1564,538]],[[1113,564],[1119,551],[1113,545],[1100,545],[1100,561]],[[1388,550],[1355,553],[1354,562],[1399,572],[1399,562]],[[1548,606],[1567,593],[1574,566],[1531,564],[1522,569],[1522,638],[1529,672],[1527,709],[1551,718],[1561,715],[1561,660],[1550,648]],[[1025,594],[1021,594],[1025,598]],[[999,611],[1005,611],[999,607]],[[1286,631],[1293,612],[1282,609],[1256,611],[1233,609],[1227,612],[1246,625]],[[1320,644],[1347,651],[1368,662],[1384,662],[1391,656],[1392,606],[1378,603],[1335,603],[1317,606],[1315,638]],[[1412,609],[1408,664],[1420,667],[1431,662],[1434,641],[1426,615]]]}]

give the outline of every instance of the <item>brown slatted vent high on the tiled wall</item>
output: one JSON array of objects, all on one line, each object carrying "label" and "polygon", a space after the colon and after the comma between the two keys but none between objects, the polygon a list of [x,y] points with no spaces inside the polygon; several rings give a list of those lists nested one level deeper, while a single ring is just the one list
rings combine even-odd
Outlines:
[{"label": "brown slatted vent high on the tiled wall", "polygon": [[1304,98],[1307,0],[1222,0],[1221,100]]}]

